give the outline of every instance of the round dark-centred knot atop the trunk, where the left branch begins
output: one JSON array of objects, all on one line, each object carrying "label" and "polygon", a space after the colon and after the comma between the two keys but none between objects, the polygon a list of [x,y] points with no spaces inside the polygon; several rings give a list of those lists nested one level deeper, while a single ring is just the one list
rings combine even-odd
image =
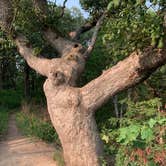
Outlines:
[{"label": "round dark-centred knot atop the trunk, where the left branch begins", "polygon": [[53,86],[59,86],[66,83],[65,75],[60,71],[56,71],[56,72],[51,71],[49,73],[48,78],[52,82]]}]

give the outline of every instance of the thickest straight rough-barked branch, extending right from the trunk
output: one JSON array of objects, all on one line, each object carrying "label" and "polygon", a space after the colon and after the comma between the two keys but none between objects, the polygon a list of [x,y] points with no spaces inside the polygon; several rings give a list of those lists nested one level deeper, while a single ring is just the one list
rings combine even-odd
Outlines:
[{"label": "thickest straight rough-barked branch, extending right from the trunk", "polygon": [[96,110],[110,97],[145,80],[164,64],[166,64],[166,49],[149,47],[143,53],[134,52],[81,88],[83,103],[88,110]]}]

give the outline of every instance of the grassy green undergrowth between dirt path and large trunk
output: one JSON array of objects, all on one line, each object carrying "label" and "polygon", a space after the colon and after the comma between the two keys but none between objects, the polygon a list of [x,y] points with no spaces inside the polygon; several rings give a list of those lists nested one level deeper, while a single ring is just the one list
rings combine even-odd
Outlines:
[{"label": "grassy green undergrowth between dirt path and large trunk", "polygon": [[36,117],[33,113],[24,112],[17,113],[16,121],[23,134],[59,144],[58,135],[50,122]]}]

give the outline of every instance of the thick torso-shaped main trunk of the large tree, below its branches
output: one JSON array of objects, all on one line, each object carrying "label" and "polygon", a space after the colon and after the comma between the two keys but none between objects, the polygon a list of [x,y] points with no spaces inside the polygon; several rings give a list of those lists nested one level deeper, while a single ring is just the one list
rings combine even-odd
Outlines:
[{"label": "thick torso-shaped main trunk of the large tree, below its branches", "polygon": [[67,166],[98,166],[102,155],[96,122],[81,100],[79,89],[45,82],[48,111],[62,143]]}]

